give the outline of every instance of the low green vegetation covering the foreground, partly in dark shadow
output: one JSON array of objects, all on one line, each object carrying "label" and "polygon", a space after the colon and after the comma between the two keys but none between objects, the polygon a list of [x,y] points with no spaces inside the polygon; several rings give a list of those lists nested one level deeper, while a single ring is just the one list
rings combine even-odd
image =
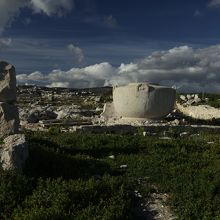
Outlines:
[{"label": "low green vegetation covering the foreground, partly in dark shadow", "polygon": [[27,132],[24,175],[0,172],[0,219],[137,219],[133,191],[152,185],[179,219],[220,219],[220,137],[139,133]]}]

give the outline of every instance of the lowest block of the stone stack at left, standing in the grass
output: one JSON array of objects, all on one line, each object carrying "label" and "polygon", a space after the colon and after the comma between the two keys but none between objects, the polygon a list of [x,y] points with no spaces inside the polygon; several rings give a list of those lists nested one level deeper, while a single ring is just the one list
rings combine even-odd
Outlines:
[{"label": "lowest block of the stone stack at left, standing in the grass", "polygon": [[24,134],[10,135],[0,145],[0,163],[3,170],[22,172],[28,158],[28,147]]}]

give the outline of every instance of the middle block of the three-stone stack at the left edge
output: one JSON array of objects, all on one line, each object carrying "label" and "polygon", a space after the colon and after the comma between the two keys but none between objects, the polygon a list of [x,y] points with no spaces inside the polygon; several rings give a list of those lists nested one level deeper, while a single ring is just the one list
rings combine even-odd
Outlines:
[{"label": "middle block of the three-stone stack at the left edge", "polygon": [[19,129],[18,108],[5,102],[0,102],[0,138],[15,134]]}]

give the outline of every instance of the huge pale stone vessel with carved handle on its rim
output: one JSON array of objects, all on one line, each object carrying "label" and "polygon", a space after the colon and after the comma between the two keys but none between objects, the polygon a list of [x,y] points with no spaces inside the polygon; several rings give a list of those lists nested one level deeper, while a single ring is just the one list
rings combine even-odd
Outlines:
[{"label": "huge pale stone vessel with carved handle on its rim", "polygon": [[160,119],[174,108],[176,91],[148,83],[113,88],[115,114],[123,118]]}]

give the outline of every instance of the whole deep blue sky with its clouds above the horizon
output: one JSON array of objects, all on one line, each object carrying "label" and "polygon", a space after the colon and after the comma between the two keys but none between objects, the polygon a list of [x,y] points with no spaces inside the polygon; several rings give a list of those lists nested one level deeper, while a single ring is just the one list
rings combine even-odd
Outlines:
[{"label": "whole deep blue sky with its clouds above the horizon", "polygon": [[0,0],[19,84],[220,92],[220,0]]}]

